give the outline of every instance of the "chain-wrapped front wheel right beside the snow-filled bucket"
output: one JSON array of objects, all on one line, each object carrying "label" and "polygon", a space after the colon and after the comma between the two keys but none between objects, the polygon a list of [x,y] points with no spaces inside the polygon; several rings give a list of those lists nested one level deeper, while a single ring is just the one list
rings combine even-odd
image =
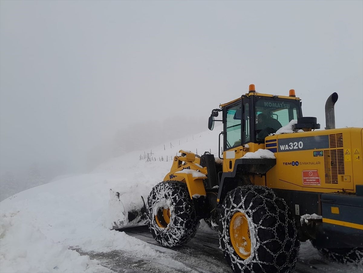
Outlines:
[{"label": "chain-wrapped front wheel right beside the snow-filled bucket", "polygon": [[[158,223],[160,209],[167,209],[169,218]],[[147,223],[154,239],[163,246],[179,246],[191,240],[197,232],[199,220],[196,220],[187,185],[165,181],[154,186],[147,198]]]}]

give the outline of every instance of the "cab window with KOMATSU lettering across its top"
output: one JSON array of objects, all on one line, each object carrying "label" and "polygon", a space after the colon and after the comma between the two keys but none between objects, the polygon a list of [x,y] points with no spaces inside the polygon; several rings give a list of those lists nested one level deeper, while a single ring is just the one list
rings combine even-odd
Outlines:
[{"label": "cab window with KOMATSU lettering across its top", "polygon": [[255,103],[255,117],[256,140],[264,141],[269,134],[301,117],[300,102],[260,97]]}]

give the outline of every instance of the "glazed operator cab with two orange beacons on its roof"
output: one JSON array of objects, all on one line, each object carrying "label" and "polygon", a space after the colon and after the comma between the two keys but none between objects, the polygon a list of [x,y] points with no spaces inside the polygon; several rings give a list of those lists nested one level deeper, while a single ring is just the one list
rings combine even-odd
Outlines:
[{"label": "glazed operator cab with two orange beacons on its roof", "polygon": [[[251,90],[252,89],[252,90]],[[291,90],[293,91],[293,90]],[[256,93],[254,85],[250,92],[240,99],[221,104],[209,118],[208,128],[212,128],[217,111],[223,112],[224,150],[250,142],[265,143],[265,137],[302,116],[300,99],[295,92],[290,96],[276,96]]]}]

